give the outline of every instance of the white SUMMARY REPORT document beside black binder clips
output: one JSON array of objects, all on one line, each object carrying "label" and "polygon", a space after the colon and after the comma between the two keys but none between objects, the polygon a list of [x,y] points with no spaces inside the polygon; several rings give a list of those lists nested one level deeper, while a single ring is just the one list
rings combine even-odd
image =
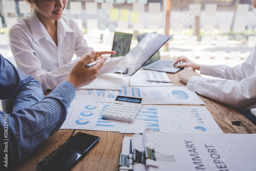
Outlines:
[{"label": "white SUMMARY REPORT document beside black binder clips", "polygon": [[[154,148],[158,167],[147,170],[248,170],[256,168],[256,134],[167,134],[146,130],[145,146]],[[158,152],[158,153],[157,153]],[[163,160],[159,153],[174,155]]]}]

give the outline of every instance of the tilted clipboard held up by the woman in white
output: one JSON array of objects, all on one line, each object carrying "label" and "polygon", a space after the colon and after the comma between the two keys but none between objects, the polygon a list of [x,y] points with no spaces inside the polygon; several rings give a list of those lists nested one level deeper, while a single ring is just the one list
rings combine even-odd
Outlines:
[{"label": "tilted clipboard held up by the woman in white", "polygon": [[169,36],[157,33],[148,33],[133,50],[117,63],[116,67],[128,75],[133,75],[169,38]]}]

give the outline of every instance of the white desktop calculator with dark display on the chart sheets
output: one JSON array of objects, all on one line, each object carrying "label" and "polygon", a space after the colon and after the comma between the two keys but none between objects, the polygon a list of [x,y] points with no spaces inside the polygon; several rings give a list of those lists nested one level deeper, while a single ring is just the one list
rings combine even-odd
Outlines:
[{"label": "white desktop calculator with dark display on the chart sheets", "polygon": [[117,96],[116,100],[102,113],[102,118],[133,122],[142,106],[142,98]]}]

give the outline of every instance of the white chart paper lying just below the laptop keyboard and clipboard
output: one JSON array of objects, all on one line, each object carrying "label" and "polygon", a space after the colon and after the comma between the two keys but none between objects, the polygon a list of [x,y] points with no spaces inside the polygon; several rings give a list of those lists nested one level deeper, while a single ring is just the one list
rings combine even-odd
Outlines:
[{"label": "white chart paper lying just below the laptop keyboard and clipboard", "polygon": [[139,70],[130,77],[131,87],[173,86],[165,72]]}]

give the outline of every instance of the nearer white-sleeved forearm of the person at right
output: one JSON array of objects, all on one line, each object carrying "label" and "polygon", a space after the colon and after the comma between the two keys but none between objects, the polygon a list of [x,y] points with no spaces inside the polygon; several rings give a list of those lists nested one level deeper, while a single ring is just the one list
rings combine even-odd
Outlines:
[{"label": "nearer white-sleeved forearm of the person at right", "polygon": [[256,76],[233,80],[191,77],[187,87],[203,96],[240,109],[256,108]]}]

